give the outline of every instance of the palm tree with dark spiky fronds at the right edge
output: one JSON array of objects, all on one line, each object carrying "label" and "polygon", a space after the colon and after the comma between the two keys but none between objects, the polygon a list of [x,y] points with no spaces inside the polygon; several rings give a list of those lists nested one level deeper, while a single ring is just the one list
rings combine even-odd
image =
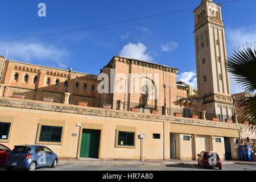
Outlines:
[{"label": "palm tree with dark spiky fronds at the right edge", "polygon": [[[256,47],[243,46],[234,50],[226,61],[226,70],[234,77],[237,84],[241,84],[246,92],[256,91]],[[256,129],[256,96],[243,100],[243,119],[253,125],[250,129]]]}]

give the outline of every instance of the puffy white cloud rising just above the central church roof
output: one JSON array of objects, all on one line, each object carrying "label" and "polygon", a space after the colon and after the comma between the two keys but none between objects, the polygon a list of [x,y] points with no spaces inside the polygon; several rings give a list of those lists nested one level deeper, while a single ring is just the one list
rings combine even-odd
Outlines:
[{"label": "puffy white cloud rising just above the central church roof", "polygon": [[144,44],[141,42],[139,42],[138,44],[128,43],[119,52],[119,55],[144,61],[153,60],[152,56],[150,56],[150,53],[147,52],[147,47],[144,46]]}]

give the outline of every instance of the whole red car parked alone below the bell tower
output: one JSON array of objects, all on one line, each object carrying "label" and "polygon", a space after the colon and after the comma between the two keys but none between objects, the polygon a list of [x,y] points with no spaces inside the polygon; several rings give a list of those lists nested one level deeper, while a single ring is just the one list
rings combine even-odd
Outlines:
[{"label": "whole red car parked alone below the bell tower", "polygon": [[199,158],[197,158],[197,163],[202,168],[218,167],[219,169],[222,169],[220,157],[216,152],[203,151],[200,154],[197,154],[197,156],[199,156]]}]

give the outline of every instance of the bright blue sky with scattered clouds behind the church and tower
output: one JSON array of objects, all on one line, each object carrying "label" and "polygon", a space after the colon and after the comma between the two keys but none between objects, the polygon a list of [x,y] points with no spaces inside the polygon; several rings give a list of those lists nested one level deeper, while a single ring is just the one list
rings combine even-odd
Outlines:
[{"label": "bright blue sky with scattered clouds behind the church and tower", "polygon": [[[227,0],[215,0],[216,3]],[[46,17],[38,4],[46,3]],[[191,9],[201,0],[9,0],[1,1],[0,41],[75,28],[96,26],[170,11]],[[243,42],[256,41],[255,0],[222,6],[228,52]],[[179,79],[196,85],[193,12],[92,28],[41,38],[0,43],[0,55],[97,75],[114,55],[125,55],[179,69]],[[241,91],[232,83],[233,93]]]}]

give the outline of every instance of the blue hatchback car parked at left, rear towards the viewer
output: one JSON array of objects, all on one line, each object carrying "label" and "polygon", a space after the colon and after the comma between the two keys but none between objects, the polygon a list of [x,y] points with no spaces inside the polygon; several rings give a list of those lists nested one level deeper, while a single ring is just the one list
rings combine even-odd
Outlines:
[{"label": "blue hatchback car parked at left, rear towards the viewer", "polygon": [[40,145],[14,146],[6,159],[5,169],[23,168],[34,171],[38,167],[56,167],[57,155],[48,147]]}]

